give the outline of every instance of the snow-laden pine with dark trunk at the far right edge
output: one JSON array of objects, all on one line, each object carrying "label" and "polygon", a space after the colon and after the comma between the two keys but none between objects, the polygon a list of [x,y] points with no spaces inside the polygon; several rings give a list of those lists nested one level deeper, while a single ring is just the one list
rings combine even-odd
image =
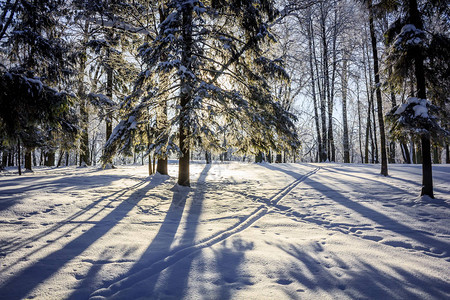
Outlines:
[{"label": "snow-laden pine with dark trunk at the far right edge", "polygon": [[[439,1],[432,1],[430,5],[445,6]],[[386,33],[387,43],[390,45],[388,63],[393,70],[390,79],[398,84],[412,72],[416,80],[417,97],[410,98],[407,103],[391,111],[393,130],[412,128],[410,133],[419,137],[422,154],[421,195],[434,198],[430,138],[433,135],[447,135],[448,132],[441,130],[439,122],[432,114],[433,106],[427,100],[425,58],[430,45],[417,1],[405,0],[394,8],[402,9],[403,15]],[[400,117],[395,117],[399,115]]]}]

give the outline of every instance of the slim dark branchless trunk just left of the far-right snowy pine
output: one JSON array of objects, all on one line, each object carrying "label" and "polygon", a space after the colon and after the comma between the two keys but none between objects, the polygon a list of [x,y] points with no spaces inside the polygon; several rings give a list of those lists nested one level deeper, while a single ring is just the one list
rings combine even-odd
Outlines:
[{"label": "slim dark branchless trunk just left of the far-right snowy pine", "polygon": [[[380,89],[380,74],[378,70],[378,51],[377,51],[377,40],[375,37],[375,27],[373,25],[373,9],[372,0],[368,1],[369,6],[369,27],[370,27],[370,37],[372,41],[372,52],[373,52],[373,71],[375,74],[375,92],[377,96],[377,108],[378,108],[378,124],[380,127],[380,150],[381,150],[381,175],[388,175],[387,167],[387,155],[386,155],[386,134],[384,132],[384,119],[383,119],[383,105],[381,99],[381,89]],[[374,126],[375,127],[375,126]]]}]

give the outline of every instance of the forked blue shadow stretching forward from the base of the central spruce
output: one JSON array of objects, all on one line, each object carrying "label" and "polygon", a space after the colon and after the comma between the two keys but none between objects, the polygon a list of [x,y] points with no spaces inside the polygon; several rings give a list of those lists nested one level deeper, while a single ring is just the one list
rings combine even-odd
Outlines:
[{"label": "forked blue shadow stretching forward from the base of the central spruce", "polygon": [[[122,276],[121,280],[114,280],[105,284],[105,289],[100,289],[91,294],[96,298],[100,293],[103,297],[112,295],[119,298],[180,298],[187,288],[188,276],[194,255],[177,257],[173,262],[165,260],[177,252],[191,246],[195,242],[199,217],[203,208],[204,191],[199,183],[204,181],[211,165],[206,165],[200,174],[197,184],[192,188],[193,200],[186,216],[186,227],[180,238],[179,246],[170,250],[175,240],[175,234],[183,215],[183,208],[190,192],[184,187],[175,187],[171,206],[164,218],[163,224],[141,259],[136,262],[129,272]],[[179,189],[179,190],[177,190]],[[179,254],[179,253],[178,253]]]}]

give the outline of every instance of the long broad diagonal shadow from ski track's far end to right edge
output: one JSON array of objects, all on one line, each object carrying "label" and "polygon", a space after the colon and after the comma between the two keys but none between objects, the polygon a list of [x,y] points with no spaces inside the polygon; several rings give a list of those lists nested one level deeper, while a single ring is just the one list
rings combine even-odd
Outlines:
[{"label": "long broad diagonal shadow from ski track's far end to right edge", "polygon": [[[275,166],[267,166],[269,169],[277,170],[281,172],[285,172],[286,174],[291,175],[294,178],[300,177],[300,174],[296,174],[295,172],[284,170],[282,168],[278,168]],[[335,180],[338,180],[337,178],[334,178]],[[330,200],[333,200],[334,202],[343,205],[362,216],[374,221],[375,223],[381,225],[384,229],[390,230],[392,232],[395,232],[399,235],[402,235],[404,237],[410,238],[414,241],[417,241],[419,243],[422,243],[424,245],[429,246],[429,250],[425,250],[424,253],[431,255],[431,256],[437,256],[437,257],[449,257],[450,256],[450,244],[446,242],[442,242],[436,239],[431,238],[430,236],[423,234],[420,231],[414,230],[411,227],[408,227],[406,225],[403,225],[396,220],[379,213],[376,210],[373,210],[371,208],[368,208],[364,205],[359,204],[358,202],[354,202],[350,199],[348,199],[345,195],[341,194],[337,190],[333,189],[331,186],[327,186],[321,182],[318,182],[316,180],[311,179],[311,177],[308,177],[304,182],[304,184],[309,185],[316,191],[320,192],[324,196],[328,197],[327,193],[332,192],[335,196],[335,198],[329,198]],[[347,184],[347,182],[343,181],[342,184]],[[386,183],[383,183],[383,185],[388,185]],[[388,185],[390,186],[390,185]],[[358,186],[355,186],[354,189],[358,190]],[[400,244],[393,244],[391,246],[402,246]],[[407,246],[407,245],[404,245]],[[434,249],[433,249],[434,248]],[[431,252],[431,250],[433,252]],[[437,255],[436,255],[437,254]]]}]

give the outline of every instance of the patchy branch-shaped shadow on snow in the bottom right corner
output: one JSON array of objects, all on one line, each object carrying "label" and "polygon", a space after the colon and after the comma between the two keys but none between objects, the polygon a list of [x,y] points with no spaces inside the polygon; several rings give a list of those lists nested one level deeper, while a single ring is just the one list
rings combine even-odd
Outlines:
[{"label": "patchy branch-shaped shadow on snow in the bottom right corner", "polygon": [[[326,252],[320,244],[311,244],[308,249],[294,244],[279,244],[277,247],[292,257],[291,268],[278,274],[277,283],[291,284],[292,280],[301,284],[305,292],[326,291],[341,298],[345,294],[350,299],[445,299],[448,297],[448,284],[445,279],[432,277],[426,273],[418,274],[407,268],[399,269],[388,264],[374,265],[358,257],[349,267],[346,262],[332,252]],[[322,252],[325,251],[325,252]],[[327,255],[317,255],[317,252]],[[313,255],[316,253],[316,255]],[[386,272],[386,268],[390,269]],[[345,276],[337,275],[345,274]],[[311,276],[312,275],[312,276]],[[348,287],[348,288],[347,288]],[[415,287],[419,292],[416,293]],[[423,295],[421,292],[426,293]],[[287,294],[298,299],[299,294]]]}]

